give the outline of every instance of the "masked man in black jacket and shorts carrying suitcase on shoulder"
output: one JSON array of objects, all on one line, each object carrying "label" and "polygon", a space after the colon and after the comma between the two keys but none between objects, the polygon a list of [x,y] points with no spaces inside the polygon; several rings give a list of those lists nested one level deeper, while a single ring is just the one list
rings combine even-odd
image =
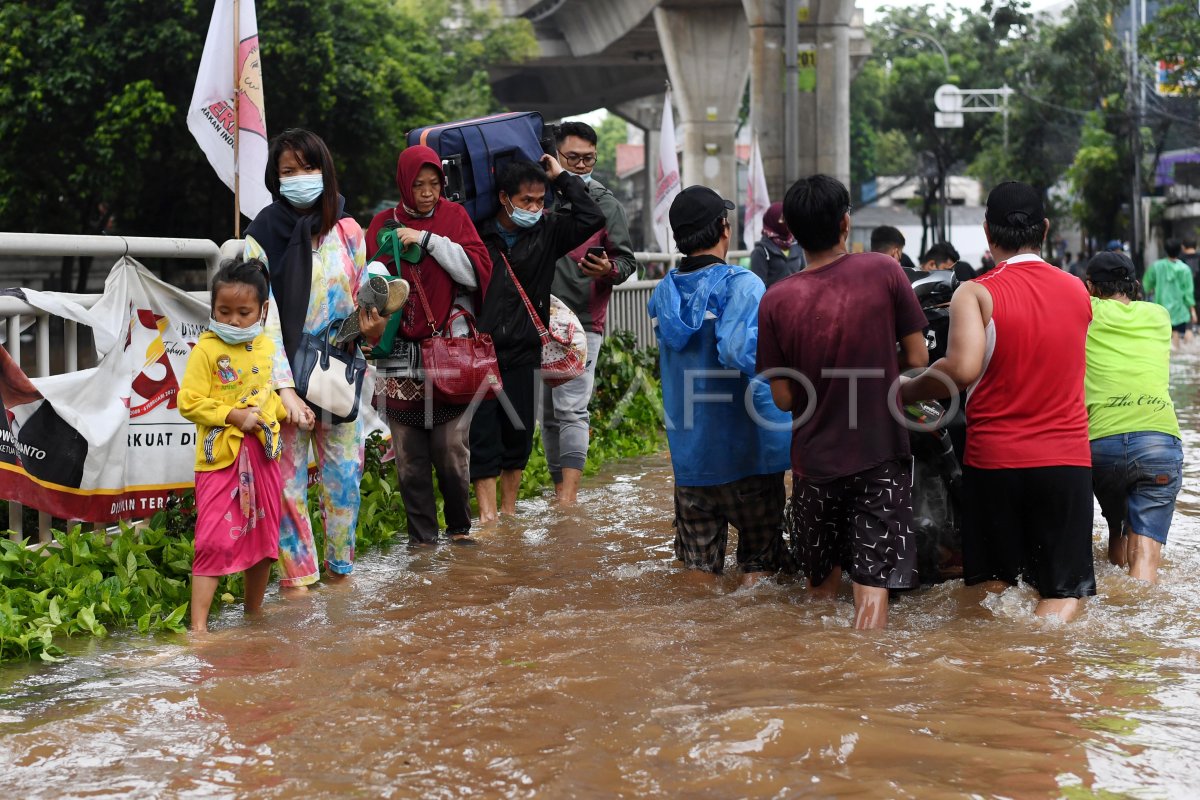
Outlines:
[{"label": "masked man in black jacket and shorts carrying suitcase on shoulder", "polygon": [[[541,163],[545,172],[528,161],[500,167],[496,176],[500,210],[479,224],[479,235],[492,258],[492,281],[479,327],[492,335],[504,395],[515,411],[488,399],[472,420],[470,480],[484,524],[497,517],[497,479],[499,511],[516,513],[521,474],[533,449],[541,339],[526,299],[541,324],[548,325],[554,264],[605,222],[578,176],[565,172],[553,156],[542,156]],[[565,201],[564,210],[544,213],[547,185]]]}]

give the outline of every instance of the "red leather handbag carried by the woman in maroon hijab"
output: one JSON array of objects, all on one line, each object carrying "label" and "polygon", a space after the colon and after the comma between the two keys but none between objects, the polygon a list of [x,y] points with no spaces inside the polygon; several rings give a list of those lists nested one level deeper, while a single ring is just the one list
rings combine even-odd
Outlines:
[{"label": "red leather handbag carried by the woman in maroon hijab", "polygon": [[[476,399],[485,399],[504,387],[500,381],[500,366],[496,361],[496,345],[488,333],[480,333],[475,327],[475,318],[466,308],[450,314],[445,326],[438,331],[433,321],[433,309],[430,308],[421,278],[413,271],[413,283],[421,307],[430,320],[433,336],[421,339],[421,368],[425,371],[426,385],[433,386],[434,399],[451,405],[462,405]],[[462,317],[467,320],[467,336],[451,336],[450,326]]]}]

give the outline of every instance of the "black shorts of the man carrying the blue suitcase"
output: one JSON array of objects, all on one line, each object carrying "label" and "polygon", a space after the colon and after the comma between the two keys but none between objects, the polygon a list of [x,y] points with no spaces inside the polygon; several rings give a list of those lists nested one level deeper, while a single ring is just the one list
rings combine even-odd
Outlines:
[{"label": "black shorts of the man carrying the blue suitcase", "polygon": [[504,397],[486,399],[470,421],[470,480],[497,477],[503,470],[524,469],[533,451],[536,420],[534,372],[538,365],[500,366]]}]

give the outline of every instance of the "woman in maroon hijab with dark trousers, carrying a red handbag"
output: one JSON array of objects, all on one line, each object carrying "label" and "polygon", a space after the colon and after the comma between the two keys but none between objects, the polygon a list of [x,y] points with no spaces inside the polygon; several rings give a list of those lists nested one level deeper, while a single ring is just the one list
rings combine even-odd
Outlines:
[{"label": "woman in maroon hijab with dark trousers, carrying a red handbag", "polygon": [[[376,408],[382,405],[388,414],[409,541],[421,545],[437,541],[432,476],[436,471],[445,501],[446,536],[451,542],[472,542],[467,440],[470,428],[458,419],[467,405],[434,399],[431,411],[416,368],[421,339],[444,331],[457,308],[479,307],[478,300],[492,276],[492,259],[467,210],[442,197],[445,174],[442,157],[433,149],[419,145],[400,154],[396,186],[401,204],[376,215],[367,229],[367,241],[376,247],[380,231],[396,228],[396,236],[406,247],[421,248],[421,258],[415,264],[406,259],[398,265],[398,275],[408,281],[412,291],[392,357],[377,362]],[[390,254],[380,255],[380,260],[392,275],[397,273]],[[466,333],[466,320],[458,317],[451,329]]]}]

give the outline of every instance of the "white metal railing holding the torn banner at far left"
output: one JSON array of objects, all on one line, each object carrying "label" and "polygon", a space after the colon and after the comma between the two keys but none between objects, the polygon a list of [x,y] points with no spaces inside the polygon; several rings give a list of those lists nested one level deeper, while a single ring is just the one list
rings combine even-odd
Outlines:
[{"label": "white metal railing holding the torn banner at far left", "polygon": [[[208,273],[216,272],[221,263],[221,248],[208,239],[152,239],[148,236],[74,236],[60,234],[20,234],[0,233],[0,255],[94,255],[112,257],[114,260],[125,255],[134,258],[174,258],[200,259],[205,263]],[[208,297],[208,293],[200,293]],[[100,300],[98,294],[66,294],[59,296],[71,300],[84,308],[91,308]],[[0,297],[0,319],[5,321],[8,355],[18,365],[22,363],[22,318],[34,318],[34,378],[47,378],[50,371],[50,314],[17,297]],[[79,369],[79,325],[74,320],[62,320],[62,374]],[[10,537],[20,541],[24,537],[24,506],[8,503]],[[37,512],[37,537],[40,541],[50,539],[50,515]]]}]

